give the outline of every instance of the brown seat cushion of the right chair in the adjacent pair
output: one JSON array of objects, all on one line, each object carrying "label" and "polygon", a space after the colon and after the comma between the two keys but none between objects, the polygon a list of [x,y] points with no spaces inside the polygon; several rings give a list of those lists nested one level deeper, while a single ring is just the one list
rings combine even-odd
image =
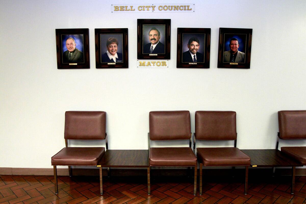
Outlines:
[{"label": "brown seat cushion of the right chair in the adjacent pair", "polygon": [[236,147],[199,147],[196,156],[204,166],[249,166],[251,158]]}]

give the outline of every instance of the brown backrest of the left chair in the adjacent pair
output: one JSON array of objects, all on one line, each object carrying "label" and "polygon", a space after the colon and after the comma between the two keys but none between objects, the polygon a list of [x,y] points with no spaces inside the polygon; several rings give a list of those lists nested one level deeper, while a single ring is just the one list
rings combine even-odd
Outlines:
[{"label": "brown backrest of the left chair in the adjacent pair", "polygon": [[151,111],[149,113],[151,140],[180,140],[191,138],[190,113],[181,111]]}]

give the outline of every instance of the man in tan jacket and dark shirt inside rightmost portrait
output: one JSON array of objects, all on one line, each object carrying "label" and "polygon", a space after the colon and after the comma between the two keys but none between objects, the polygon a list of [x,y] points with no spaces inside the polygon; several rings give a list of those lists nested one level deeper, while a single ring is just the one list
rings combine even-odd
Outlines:
[{"label": "man in tan jacket and dark shirt inside rightmost portrait", "polygon": [[230,50],[223,53],[223,62],[244,63],[243,52],[238,50],[239,41],[237,38],[230,39]]}]

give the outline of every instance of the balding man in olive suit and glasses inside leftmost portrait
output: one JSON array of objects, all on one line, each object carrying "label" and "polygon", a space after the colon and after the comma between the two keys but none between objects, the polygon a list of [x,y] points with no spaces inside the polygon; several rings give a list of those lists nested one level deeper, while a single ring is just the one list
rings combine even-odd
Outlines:
[{"label": "balding man in olive suit and glasses inside leftmost portrait", "polygon": [[66,40],[67,50],[63,53],[63,63],[84,63],[84,54],[76,48],[73,38]]}]

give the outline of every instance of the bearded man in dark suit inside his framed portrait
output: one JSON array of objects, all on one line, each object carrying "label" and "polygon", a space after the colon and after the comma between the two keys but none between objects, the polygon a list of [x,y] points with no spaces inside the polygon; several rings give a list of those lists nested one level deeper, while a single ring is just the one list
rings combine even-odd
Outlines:
[{"label": "bearded man in dark suit inside his framed portrait", "polygon": [[198,52],[200,41],[197,37],[190,38],[187,47],[189,50],[183,53],[182,62],[204,62],[204,55]]}]

